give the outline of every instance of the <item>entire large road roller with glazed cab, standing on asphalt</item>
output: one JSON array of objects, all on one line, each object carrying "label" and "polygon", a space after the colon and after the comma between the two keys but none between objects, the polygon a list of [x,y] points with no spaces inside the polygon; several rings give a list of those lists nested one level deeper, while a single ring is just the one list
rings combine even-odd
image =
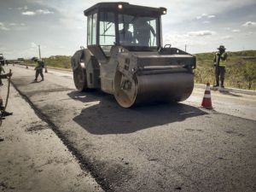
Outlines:
[{"label": "entire large road roller with glazed cab, standing on asphalt", "polygon": [[194,55],[162,44],[166,8],[97,3],[84,10],[87,48],[71,59],[79,91],[112,94],[123,108],[142,103],[182,102],[194,88]]}]

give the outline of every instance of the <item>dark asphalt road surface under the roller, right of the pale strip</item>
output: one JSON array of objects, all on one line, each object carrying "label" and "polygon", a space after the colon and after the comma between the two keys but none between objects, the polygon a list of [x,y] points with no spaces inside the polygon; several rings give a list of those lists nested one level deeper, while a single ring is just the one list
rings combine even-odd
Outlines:
[{"label": "dark asphalt road surface under the roller, right of the pale strip", "polygon": [[[186,102],[120,108],[79,93],[72,73],[12,67],[12,82],[107,191],[255,191],[256,97],[212,92],[215,110]],[[7,69],[5,69],[7,71]]]}]

